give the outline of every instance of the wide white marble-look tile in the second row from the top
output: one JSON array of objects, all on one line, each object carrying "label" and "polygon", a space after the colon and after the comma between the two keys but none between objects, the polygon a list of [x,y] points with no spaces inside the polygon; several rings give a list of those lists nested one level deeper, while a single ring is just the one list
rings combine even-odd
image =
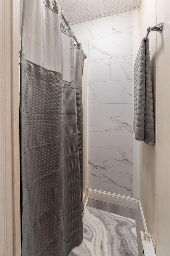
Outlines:
[{"label": "wide white marble-look tile in the second row from the top", "polygon": [[131,32],[111,37],[89,40],[89,61],[133,55],[133,35]]}]

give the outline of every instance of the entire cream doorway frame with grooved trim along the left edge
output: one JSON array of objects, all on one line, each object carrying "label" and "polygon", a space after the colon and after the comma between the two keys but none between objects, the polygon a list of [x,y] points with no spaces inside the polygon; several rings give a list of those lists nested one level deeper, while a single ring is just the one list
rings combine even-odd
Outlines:
[{"label": "entire cream doorway frame with grooved trim along the left edge", "polygon": [[2,0],[0,17],[0,250],[20,256],[20,1]]}]

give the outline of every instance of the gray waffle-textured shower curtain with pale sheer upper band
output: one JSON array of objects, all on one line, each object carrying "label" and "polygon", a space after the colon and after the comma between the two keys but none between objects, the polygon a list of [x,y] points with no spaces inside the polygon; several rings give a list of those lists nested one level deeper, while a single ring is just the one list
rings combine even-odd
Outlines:
[{"label": "gray waffle-textured shower curtain with pale sheer upper band", "polygon": [[82,241],[84,53],[48,0],[21,3],[22,256]]}]

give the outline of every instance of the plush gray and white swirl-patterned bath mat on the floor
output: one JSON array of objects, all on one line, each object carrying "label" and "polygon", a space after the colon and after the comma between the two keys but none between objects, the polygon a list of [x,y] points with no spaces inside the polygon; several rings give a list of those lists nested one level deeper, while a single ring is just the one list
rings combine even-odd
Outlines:
[{"label": "plush gray and white swirl-patterned bath mat on the floor", "polygon": [[83,241],[69,256],[139,256],[135,220],[87,206]]}]

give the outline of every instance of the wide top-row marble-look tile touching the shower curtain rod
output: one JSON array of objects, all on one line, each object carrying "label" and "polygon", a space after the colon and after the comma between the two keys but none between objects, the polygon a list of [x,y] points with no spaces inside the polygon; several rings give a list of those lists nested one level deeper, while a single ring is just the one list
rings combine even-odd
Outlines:
[{"label": "wide top-row marble-look tile touching the shower curtain rod", "polygon": [[112,35],[112,15],[71,25],[79,41]]}]

